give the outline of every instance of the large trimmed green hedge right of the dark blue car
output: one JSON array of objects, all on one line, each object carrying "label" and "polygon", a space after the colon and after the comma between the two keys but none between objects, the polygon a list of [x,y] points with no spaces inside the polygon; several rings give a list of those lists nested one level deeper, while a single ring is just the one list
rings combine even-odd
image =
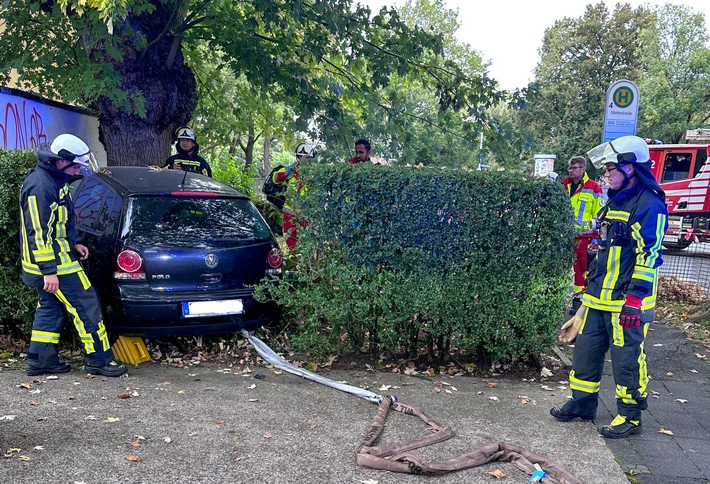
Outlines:
[{"label": "large trimmed green hedge right of the dark blue car", "polygon": [[[550,344],[574,237],[559,184],[499,172],[312,165],[296,280],[271,288],[311,351]],[[342,335],[348,338],[343,339]]]}]

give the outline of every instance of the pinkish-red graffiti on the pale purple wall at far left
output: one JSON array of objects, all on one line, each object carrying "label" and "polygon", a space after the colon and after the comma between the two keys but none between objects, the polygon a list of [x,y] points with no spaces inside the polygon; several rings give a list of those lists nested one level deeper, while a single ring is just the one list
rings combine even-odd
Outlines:
[{"label": "pinkish-red graffiti on the pale purple wall at far left", "polygon": [[24,99],[4,103],[0,116],[0,140],[3,149],[30,150],[47,142],[44,120],[36,107]]}]

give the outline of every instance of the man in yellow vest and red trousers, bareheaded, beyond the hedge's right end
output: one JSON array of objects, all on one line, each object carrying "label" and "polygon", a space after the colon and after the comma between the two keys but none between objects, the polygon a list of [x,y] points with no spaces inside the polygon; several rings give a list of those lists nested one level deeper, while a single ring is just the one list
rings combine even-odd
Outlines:
[{"label": "man in yellow vest and red trousers, bareheaded, beyond the hedge's right end", "polygon": [[572,290],[572,308],[575,314],[582,304],[585,278],[587,276],[587,249],[593,239],[598,237],[596,216],[602,208],[602,187],[587,175],[587,160],[583,156],[573,156],[569,160],[569,176],[562,184],[569,194],[574,212],[574,226],[577,235],[574,238],[574,284]]}]

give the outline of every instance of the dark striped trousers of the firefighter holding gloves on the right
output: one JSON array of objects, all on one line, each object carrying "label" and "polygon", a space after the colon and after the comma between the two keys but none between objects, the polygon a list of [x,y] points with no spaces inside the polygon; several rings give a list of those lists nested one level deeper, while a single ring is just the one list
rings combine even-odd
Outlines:
[{"label": "dark striped trousers of the firefighter holding gloves on the right", "polygon": [[637,420],[647,408],[648,373],[644,340],[648,324],[622,328],[619,313],[588,308],[577,335],[569,376],[572,399],[563,410],[594,418],[604,369],[604,355],[611,353],[616,383],[616,407],[620,415]]}]

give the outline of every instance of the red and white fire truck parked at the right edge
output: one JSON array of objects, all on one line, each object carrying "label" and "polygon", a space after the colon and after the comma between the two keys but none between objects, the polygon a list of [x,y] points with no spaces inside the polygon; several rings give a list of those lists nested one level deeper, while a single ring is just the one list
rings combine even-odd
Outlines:
[{"label": "red and white fire truck parked at the right edge", "polygon": [[667,249],[710,242],[710,144],[650,145],[653,175],[666,192]]}]

